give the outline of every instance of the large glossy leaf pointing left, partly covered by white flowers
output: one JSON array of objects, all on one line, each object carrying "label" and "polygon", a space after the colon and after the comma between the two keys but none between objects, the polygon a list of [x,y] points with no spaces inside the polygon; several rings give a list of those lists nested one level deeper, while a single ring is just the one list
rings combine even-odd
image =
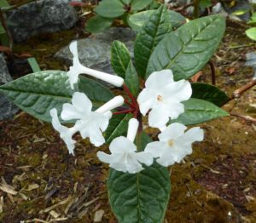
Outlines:
[{"label": "large glossy leaf pointing left, partly covered by white flowers", "polygon": [[[80,80],[79,88],[94,105],[99,106],[113,97],[100,83],[85,77]],[[39,71],[0,86],[0,92],[23,111],[50,122],[49,110],[55,107],[61,111],[62,105],[70,102],[74,90],[70,89],[67,72]]]}]

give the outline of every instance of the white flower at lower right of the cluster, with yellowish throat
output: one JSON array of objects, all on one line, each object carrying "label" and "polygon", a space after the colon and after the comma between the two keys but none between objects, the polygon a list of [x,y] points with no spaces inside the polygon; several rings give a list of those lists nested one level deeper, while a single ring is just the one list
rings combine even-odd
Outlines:
[{"label": "white flower at lower right of the cluster, with yellowish throat", "polygon": [[180,163],[183,157],[192,153],[191,144],[204,139],[204,132],[199,127],[189,129],[181,123],[170,124],[158,138],[160,141],[148,143],[145,152],[156,157],[156,162],[167,167],[173,163]]}]

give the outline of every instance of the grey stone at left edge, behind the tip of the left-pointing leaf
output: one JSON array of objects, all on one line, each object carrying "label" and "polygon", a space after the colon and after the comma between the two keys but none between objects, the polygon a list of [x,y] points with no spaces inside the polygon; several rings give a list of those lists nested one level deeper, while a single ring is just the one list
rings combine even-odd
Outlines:
[{"label": "grey stone at left edge, behind the tip of the left-pointing leaf", "polygon": [[[10,81],[12,81],[12,77],[9,75],[3,54],[0,54],[0,85],[9,83]],[[0,93],[0,120],[14,117],[17,111],[19,111],[19,109]]]}]

